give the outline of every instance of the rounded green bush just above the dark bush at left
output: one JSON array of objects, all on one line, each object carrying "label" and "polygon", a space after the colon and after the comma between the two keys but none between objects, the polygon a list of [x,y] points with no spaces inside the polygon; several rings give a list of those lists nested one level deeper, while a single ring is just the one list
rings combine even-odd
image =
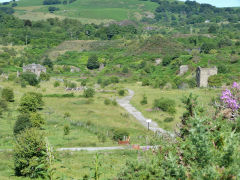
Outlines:
[{"label": "rounded green bush just above the dark bush at left", "polygon": [[36,112],[43,106],[42,94],[29,92],[25,93],[20,99],[18,110],[21,113]]}]

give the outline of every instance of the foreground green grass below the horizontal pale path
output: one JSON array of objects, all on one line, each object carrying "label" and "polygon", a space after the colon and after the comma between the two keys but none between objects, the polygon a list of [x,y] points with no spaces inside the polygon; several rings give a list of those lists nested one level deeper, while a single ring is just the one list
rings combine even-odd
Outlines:
[{"label": "foreground green grass below the horizontal pale path", "polygon": [[[114,179],[118,172],[124,168],[127,161],[136,160],[140,153],[129,150],[101,151],[99,160],[101,165],[100,179]],[[0,179],[30,179],[14,176],[13,154],[11,152],[0,152]],[[55,155],[57,169],[54,178],[60,179],[82,179],[85,175],[91,175],[95,168],[96,152],[58,152]]]}]

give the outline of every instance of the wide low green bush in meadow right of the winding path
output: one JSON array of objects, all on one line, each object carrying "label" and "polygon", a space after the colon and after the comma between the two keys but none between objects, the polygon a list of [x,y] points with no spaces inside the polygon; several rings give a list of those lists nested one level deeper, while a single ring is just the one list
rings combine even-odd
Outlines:
[{"label": "wide low green bush in meadow right of the winding path", "polygon": [[176,103],[172,99],[161,98],[154,100],[154,108],[161,109],[164,112],[168,112],[170,114],[176,113]]}]

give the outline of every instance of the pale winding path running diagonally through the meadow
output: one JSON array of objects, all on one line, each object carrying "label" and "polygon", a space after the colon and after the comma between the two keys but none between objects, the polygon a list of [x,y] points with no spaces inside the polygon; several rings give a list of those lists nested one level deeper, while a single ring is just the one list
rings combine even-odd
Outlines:
[{"label": "pale winding path running diagonally through the meadow", "polygon": [[[130,101],[134,96],[134,91],[128,89],[128,96],[125,96],[122,99],[118,99],[118,104],[123,107],[129,114],[134,116],[144,127],[148,128],[148,123],[146,122],[147,118],[145,118],[140,111],[138,111],[133,105],[131,105]],[[156,122],[151,120],[150,130],[153,132],[157,132],[159,134],[168,134],[170,136],[174,136],[171,132],[168,132],[158,126]]]}]

